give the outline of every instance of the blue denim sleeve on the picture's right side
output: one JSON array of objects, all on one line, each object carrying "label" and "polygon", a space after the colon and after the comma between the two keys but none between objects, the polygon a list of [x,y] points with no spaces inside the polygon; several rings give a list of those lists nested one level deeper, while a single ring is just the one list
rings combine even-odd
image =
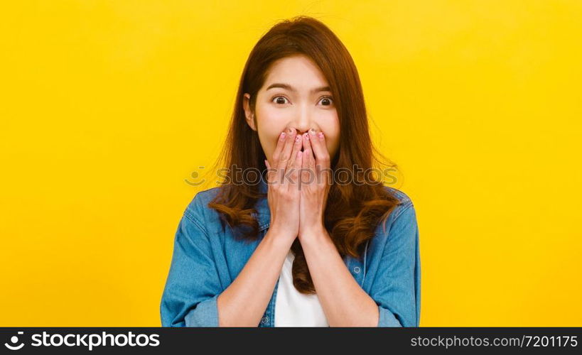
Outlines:
[{"label": "blue denim sleeve on the picture's right side", "polygon": [[419,326],[419,228],[410,201],[402,206],[389,229],[370,297],[378,305],[378,327]]}]

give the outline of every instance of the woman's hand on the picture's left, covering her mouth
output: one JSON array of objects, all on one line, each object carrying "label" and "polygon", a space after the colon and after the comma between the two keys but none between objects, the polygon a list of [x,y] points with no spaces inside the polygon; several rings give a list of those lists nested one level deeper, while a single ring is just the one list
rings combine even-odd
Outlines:
[{"label": "woman's hand on the picture's left, covering her mouth", "polygon": [[[289,246],[299,231],[298,173],[302,165],[301,145],[301,135],[296,134],[296,129],[290,128],[279,135],[272,157],[272,168],[269,161],[265,160],[267,200],[271,212],[269,231],[276,239],[281,238],[281,241],[289,242]],[[288,170],[291,170],[289,179],[286,177]]]}]

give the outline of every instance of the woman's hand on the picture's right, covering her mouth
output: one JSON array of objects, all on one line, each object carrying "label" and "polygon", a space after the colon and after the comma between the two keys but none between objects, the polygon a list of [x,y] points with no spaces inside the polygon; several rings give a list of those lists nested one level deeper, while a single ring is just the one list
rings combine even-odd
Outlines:
[{"label": "woman's hand on the picture's right, covering her mouth", "polygon": [[301,201],[298,238],[302,241],[325,233],[323,212],[330,190],[330,155],[323,132],[304,133],[301,165]]}]

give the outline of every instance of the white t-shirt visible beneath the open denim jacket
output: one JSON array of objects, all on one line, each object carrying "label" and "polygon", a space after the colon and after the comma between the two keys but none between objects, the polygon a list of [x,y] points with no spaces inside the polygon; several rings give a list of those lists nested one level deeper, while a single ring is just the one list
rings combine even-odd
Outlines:
[{"label": "white t-shirt visible beneath the open denim jacket", "polygon": [[275,300],[275,327],[329,327],[317,295],[304,295],[293,286],[291,268],[295,256],[289,250],[279,275]]}]

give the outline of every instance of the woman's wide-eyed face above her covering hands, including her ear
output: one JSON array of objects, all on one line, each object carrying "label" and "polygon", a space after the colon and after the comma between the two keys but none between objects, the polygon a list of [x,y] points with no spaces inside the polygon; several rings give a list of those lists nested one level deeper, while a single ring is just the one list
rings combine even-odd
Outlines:
[{"label": "woman's wide-eyed face above her covering hands, including her ear", "polygon": [[[305,55],[282,58],[271,65],[250,111],[248,93],[243,105],[247,124],[259,134],[269,164],[279,135],[293,128],[298,134],[313,128],[323,131],[331,160],[338,151],[340,122],[335,102],[319,67]],[[254,119],[257,125],[255,126]]]}]

